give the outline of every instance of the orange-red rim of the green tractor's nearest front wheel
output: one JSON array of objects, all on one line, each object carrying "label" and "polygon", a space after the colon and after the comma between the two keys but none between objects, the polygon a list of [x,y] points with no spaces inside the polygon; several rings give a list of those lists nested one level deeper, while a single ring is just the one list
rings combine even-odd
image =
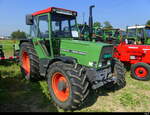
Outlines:
[{"label": "orange-red rim of the green tractor's nearest front wheel", "polygon": [[[65,87],[60,90],[59,84],[61,83],[63,83]],[[58,100],[64,102],[69,98],[70,88],[68,81],[60,72],[57,72],[52,76],[52,89]]]}]

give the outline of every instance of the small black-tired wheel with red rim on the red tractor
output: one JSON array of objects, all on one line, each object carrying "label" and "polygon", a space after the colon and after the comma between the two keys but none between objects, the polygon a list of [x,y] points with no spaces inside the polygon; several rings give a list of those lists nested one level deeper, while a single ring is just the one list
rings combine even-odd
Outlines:
[{"label": "small black-tired wheel with red rim on the red tractor", "polygon": [[[137,68],[143,68],[146,70],[146,73],[139,73],[139,75],[137,75]],[[142,71],[142,70],[141,70]],[[140,72],[140,70],[139,70]],[[131,65],[131,76],[134,79],[137,80],[141,80],[141,81],[148,81],[150,80],[150,65],[146,64],[146,63],[137,63],[137,64],[132,64]]]}]

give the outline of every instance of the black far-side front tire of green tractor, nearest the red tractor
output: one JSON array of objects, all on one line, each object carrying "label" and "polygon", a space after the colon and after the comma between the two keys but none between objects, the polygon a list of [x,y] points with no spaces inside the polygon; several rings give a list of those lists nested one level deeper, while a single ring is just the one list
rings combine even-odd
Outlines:
[{"label": "black far-side front tire of green tractor, nearest the red tractor", "polygon": [[120,62],[118,59],[114,58],[112,60],[112,73],[117,78],[116,83],[108,83],[106,84],[107,89],[121,89],[126,86],[126,80],[125,80],[125,67],[122,62]]}]

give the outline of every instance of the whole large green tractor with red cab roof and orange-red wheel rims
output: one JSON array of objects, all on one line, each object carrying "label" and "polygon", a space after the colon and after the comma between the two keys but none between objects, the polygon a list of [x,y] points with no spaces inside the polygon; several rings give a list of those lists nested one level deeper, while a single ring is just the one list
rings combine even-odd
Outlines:
[{"label": "whole large green tractor with red cab roof and orange-red wheel rims", "polygon": [[76,11],[56,7],[27,15],[32,38],[20,41],[23,76],[47,80],[52,100],[64,110],[79,109],[92,89],[126,84],[124,65],[112,58],[113,46],[81,40],[76,17]]}]

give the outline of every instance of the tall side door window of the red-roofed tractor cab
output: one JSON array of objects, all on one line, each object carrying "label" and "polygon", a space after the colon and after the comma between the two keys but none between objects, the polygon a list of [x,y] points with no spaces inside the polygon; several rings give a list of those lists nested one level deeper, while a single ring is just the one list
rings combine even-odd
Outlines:
[{"label": "tall side door window of the red-roofed tractor cab", "polygon": [[48,31],[48,15],[39,16],[39,32],[38,37],[40,38],[48,38],[49,31]]}]

